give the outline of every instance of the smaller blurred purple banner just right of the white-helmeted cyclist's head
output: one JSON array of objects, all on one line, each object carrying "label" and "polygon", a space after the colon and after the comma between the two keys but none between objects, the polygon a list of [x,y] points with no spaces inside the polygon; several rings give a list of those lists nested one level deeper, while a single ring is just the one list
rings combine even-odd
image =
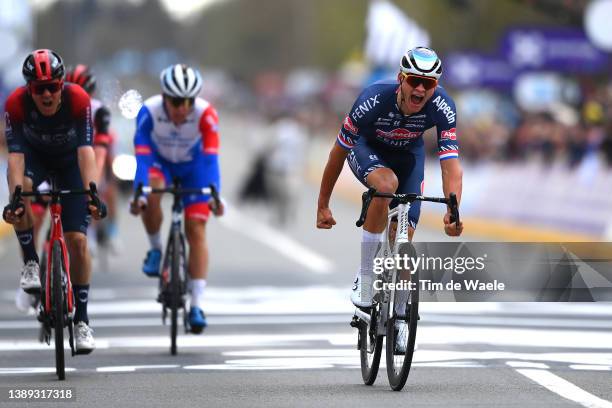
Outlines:
[{"label": "smaller blurred purple banner just right of the white-helmeted cyclist's head", "polygon": [[455,88],[510,88],[517,70],[504,58],[475,52],[444,57],[443,81]]}]

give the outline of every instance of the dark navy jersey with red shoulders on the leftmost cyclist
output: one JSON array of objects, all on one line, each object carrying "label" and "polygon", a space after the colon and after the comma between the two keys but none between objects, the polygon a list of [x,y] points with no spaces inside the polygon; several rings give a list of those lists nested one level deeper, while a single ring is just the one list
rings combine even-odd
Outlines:
[{"label": "dark navy jersey with red shoulders on the leftmost cyclist", "polygon": [[46,157],[60,157],[92,144],[89,95],[78,85],[64,85],[62,104],[53,116],[36,109],[25,86],[17,88],[6,100],[5,116],[11,153],[23,153],[29,147]]}]

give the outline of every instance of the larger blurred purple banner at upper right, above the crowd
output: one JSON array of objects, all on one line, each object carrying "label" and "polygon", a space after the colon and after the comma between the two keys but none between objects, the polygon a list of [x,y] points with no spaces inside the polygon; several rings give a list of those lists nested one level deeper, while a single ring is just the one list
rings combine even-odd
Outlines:
[{"label": "larger blurred purple banner at upper right, above the crowd", "polygon": [[593,73],[609,62],[608,54],[575,28],[514,28],[504,35],[501,52],[519,70]]}]

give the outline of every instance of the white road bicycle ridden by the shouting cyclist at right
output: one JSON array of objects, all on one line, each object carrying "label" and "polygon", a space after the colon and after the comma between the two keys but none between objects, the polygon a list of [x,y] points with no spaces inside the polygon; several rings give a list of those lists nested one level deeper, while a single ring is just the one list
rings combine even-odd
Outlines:
[{"label": "white road bicycle ridden by the shouting cyclist at right", "polygon": [[[384,232],[386,239],[377,255],[379,257],[395,258],[399,255],[400,258],[410,258],[415,255],[408,238],[408,211],[411,203],[415,201],[448,205],[451,211],[451,223],[456,221],[459,225],[459,209],[454,193],[451,193],[449,198],[438,198],[417,194],[379,193],[374,188],[370,188],[362,195],[361,215],[356,223],[357,227],[362,227],[365,223],[368,208],[375,197],[390,198],[399,203],[397,207],[389,210],[387,227]],[[397,220],[397,230],[390,231],[390,226],[395,220]],[[400,391],[408,379],[414,354],[419,320],[419,271],[418,269],[401,269],[396,264],[393,268],[384,268],[377,279],[379,282],[374,287],[373,306],[357,308],[351,326],[358,329],[357,348],[360,352],[363,382],[366,385],[372,385],[376,381],[383,339],[386,337],[389,384],[394,391]],[[396,290],[398,286],[408,287]],[[402,294],[401,290],[406,292]],[[400,335],[396,322],[405,322],[405,324],[400,324],[400,327],[408,331],[407,335]],[[406,344],[398,344],[398,337],[404,338]]]}]

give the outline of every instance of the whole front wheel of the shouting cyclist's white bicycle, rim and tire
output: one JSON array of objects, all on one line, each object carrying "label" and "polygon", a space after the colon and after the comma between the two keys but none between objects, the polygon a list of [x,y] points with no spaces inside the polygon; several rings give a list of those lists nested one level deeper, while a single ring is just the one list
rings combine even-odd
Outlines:
[{"label": "whole front wheel of the shouting cyclist's white bicycle, rim and tire", "polygon": [[[413,256],[413,248],[410,243],[401,244],[398,249],[400,257]],[[399,272],[397,273],[399,277]],[[396,279],[397,281],[398,279]],[[401,391],[406,384],[410,367],[412,366],[412,356],[414,354],[414,345],[416,341],[416,332],[419,316],[419,274],[418,270],[412,272],[410,280],[415,282],[414,289],[410,290],[408,296],[408,304],[402,314],[396,313],[396,301],[398,300],[398,291],[392,293],[392,305],[389,307],[389,315],[387,321],[387,376],[389,384],[394,391]],[[402,330],[407,330],[408,333],[399,333],[396,330],[396,322],[403,321],[406,324],[402,325]],[[403,334],[403,335],[401,335]],[[402,344],[399,344],[398,337],[403,339]],[[402,350],[403,349],[403,350]]]}]

